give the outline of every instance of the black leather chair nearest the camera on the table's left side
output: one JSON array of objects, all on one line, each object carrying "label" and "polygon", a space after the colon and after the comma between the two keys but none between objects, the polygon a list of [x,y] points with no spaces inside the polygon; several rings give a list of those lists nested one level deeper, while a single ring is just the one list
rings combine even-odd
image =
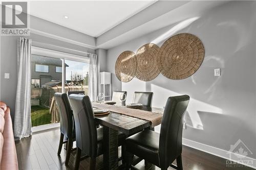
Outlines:
[{"label": "black leather chair nearest the camera on the table's left side", "polygon": [[[73,108],[76,126],[77,155],[75,169],[79,168],[81,152],[91,158],[90,170],[96,167],[96,157],[103,154],[103,128],[96,128],[94,112],[89,96],[71,94],[69,96]],[[124,140],[123,134],[118,135],[118,140]]]}]

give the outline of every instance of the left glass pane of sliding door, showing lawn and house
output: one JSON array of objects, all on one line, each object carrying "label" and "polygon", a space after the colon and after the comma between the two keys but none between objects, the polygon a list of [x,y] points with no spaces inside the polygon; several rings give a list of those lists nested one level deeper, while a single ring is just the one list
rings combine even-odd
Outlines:
[{"label": "left glass pane of sliding door, showing lawn and house", "polygon": [[[50,113],[55,92],[61,92],[61,59],[32,55],[31,122],[32,127],[58,122]],[[61,70],[60,69],[60,70]]]}]

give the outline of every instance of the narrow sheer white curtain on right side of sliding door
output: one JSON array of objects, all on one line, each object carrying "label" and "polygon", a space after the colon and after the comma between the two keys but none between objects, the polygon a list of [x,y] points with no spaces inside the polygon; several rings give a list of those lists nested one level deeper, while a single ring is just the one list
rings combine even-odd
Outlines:
[{"label": "narrow sheer white curtain on right side of sliding door", "polygon": [[89,97],[91,101],[96,101],[98,93],[98,56],[90,54],[89,66]]}]

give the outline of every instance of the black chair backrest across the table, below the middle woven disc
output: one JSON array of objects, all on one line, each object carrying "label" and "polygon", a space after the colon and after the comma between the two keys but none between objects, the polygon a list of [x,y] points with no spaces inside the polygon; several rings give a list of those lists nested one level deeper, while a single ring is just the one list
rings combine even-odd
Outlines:
[{"label": "black chair backrest across the table, below the middle woven disc", "polygon": [[133,103],[140,103],[143,106],[151,107],[153,92],[135,91],[133,95]]}]

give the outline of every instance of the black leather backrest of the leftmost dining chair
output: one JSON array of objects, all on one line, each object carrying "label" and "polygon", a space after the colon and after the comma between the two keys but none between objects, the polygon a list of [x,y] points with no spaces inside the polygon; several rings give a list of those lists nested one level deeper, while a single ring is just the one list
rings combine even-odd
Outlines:
[{"label": "black leather backrest of the leftmost dining chair", "polygon": [[67,93],[55,93],[60,117],[60,132],[68,138],[73,137],[73,115]]}]

